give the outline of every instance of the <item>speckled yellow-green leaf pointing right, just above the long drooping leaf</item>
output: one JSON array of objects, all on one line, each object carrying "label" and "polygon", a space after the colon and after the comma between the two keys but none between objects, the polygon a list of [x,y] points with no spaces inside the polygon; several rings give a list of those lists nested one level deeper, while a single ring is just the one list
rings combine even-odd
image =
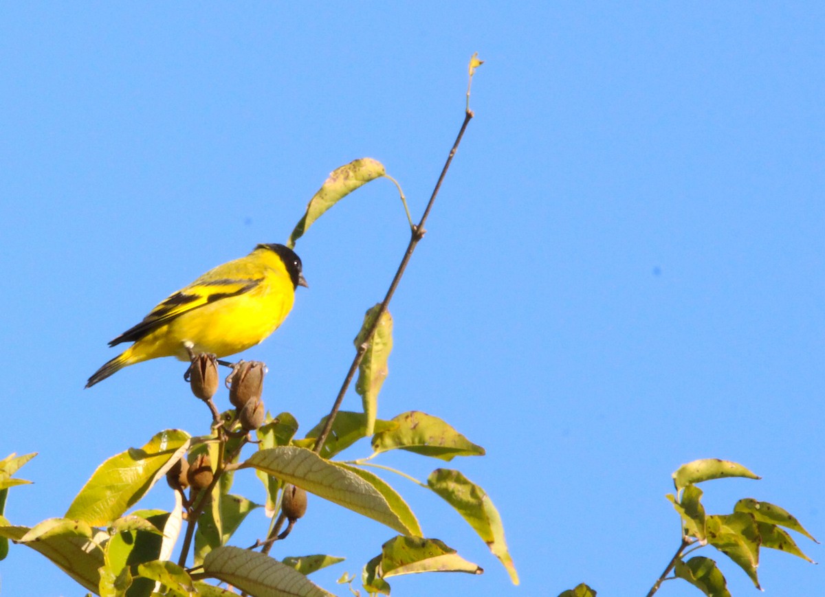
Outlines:
[{"label": "speckled yellow-green leaf pointing right, just above the long drooping leaf", "polygon": [[456,456],[483,456],[484,449],[441,421],[437,416],[409,411],[392,421],[398,429],[376,433],[372,449],[376,454],[391,449],[404,449],[416,454],[450,461]]}]

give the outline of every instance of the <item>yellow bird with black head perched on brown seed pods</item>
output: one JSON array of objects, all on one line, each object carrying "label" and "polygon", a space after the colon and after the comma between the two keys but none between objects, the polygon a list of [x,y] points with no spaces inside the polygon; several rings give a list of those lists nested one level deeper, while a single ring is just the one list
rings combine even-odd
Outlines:
[{"label": "yellow bird with black head perched on brown seed pods", "polygon": [[295,289],[309,287],[302,270],[289,247],[259,244],[247,256],[207,271],[109,342],[134,344],[97,369],[86,388],[144,360],[190,360],[200,352],[222,357],[259,344],[289,315]]}]

